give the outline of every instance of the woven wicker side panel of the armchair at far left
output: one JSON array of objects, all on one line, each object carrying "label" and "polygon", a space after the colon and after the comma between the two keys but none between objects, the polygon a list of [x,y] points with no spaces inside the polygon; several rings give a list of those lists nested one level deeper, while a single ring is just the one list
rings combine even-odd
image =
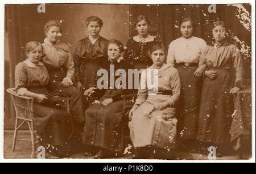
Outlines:
[{"label": "woven wicker side panel of the armchair at far left", "polygon": [[15,92],[15,88],[6,90],[13,100],[16,118],[32,121],[34,116],[34,99],[32,97],[19,96]]}]

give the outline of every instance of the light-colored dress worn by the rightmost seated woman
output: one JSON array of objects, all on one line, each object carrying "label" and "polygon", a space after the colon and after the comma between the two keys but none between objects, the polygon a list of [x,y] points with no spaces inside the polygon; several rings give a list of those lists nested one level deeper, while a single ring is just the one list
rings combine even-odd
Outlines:
[{"label": "light-colored dress worn by the rightmost seated woman", "polygon": [[[149,71],[148,71],[149,70]],[[170,65],[164,64],[158,73],[151,73],[148,77],[158,77],[158,87],[148,86],[147,74],[154,70],[148,67],[141,75],[141,84],[135,104],[138,109],[134,112],[129,122],[130,137],[134,147],[155,146],[172,148],[176,138],[176,104],[180,96],[180,79],[177,70]],[[142,86],[146,86],[143,88]],[[172,95],[159,95],[159,91],[172,91]],[[167,101],[169,106],[162,111],[154,109],[155,103]],[[168,117],[164,120],[162,115]]]}]

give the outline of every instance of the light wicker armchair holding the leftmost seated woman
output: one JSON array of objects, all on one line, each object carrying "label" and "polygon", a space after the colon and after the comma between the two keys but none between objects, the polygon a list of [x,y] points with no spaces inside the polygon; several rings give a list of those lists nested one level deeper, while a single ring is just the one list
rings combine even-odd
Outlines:
[{"label": "light wicker armchair holding the leftmost seated woman", "polygon": [[[35,158],[35,130],[34,130],[34,98],[19,96],[15,92],[15,88],[9,88],[6,90],[11,95],[11,100],[13,100],[14,108],[16,112],[16,121],[13,137],[13,151],[15,150],[16,141],[31,141],[32,142],[32,158]],[[65,112],[70,113],[70,99],[59,101],[56,104],[59,108],[63,109]],[[19,120],[22,123],[19,124]],[[31,139],[16,138],[18,129],[27,122],[28,128],[30,130]]]}]

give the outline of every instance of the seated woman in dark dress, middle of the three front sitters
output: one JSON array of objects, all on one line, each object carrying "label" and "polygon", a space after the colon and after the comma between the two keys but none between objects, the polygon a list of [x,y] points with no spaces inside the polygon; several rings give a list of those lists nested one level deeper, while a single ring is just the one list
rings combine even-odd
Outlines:
[{"label": "seated woman in dark dress, middle of the three front sitters", "polygon": [[[110,40],[108,44],[108,63],[104,66],[104,69],[108,71],[110,78],[115,78],[117,80],[119,77],[114,76],[115,73],[112,72],[112,67],[114,65],[114,70],[125,69],[125,65],[119,62],[121,53],[123,52],[123,45],[117,40]],[[123,70],[125,71],[125,70]],[[98,71],[99,73],[100,71]],[[100,74],[99,74],[100,75]],[[106,74],[104,74],[105,77]],[[103,77],[103,78],[104,78]],[[102,77],[100,77],[102,78]],[[100,80],[100,78],[98,80]],[[109,77],[105,77],[108,78]],[[98,81],[97,80],[97,81]],[[95,84],[97,84],[97,81]],[[90,105],[85,111],[85,126],[84,135],[82,143],[86,145],[85,156],[94,156],[94,158],[107,158],[114,156],[118,152],[122,151],[122,110],[123,110],[123,100],[121,95],[125,92],[123,89],[117,89],[117,81],[114,82],[115,87],[111,86],[111,80],[108,80],[106,87],[107,90],[101,90],[104,95],[100,98],[100,103],[94,103]],[[122,86],[122,84],[121,84]],[[99,88],[99,85],[97,85]],[[85,91],[85,94],[91,95],[95,92],[93,88]],[[98,89],[96,90],[100,92]]]}]

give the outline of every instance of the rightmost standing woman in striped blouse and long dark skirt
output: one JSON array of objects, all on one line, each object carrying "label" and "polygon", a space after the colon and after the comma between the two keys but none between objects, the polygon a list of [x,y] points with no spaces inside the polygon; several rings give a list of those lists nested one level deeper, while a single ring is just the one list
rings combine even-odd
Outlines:
[{"label": "rightmost standing woman in striped blouse and long dark skirt", "polygon": [[[237,46],[226,41],[224,22],[214,22],[212,33],[215,44],[207,46],[200,58],[200,65],[206,64],[208,70],[201,93],[198,139],[216,145],[217,155],[221,156],[230,143],[229,130],[234,112],[232,94],[240,90],[243,68]],[[236,75],[235,82],[233,75]]]}]

